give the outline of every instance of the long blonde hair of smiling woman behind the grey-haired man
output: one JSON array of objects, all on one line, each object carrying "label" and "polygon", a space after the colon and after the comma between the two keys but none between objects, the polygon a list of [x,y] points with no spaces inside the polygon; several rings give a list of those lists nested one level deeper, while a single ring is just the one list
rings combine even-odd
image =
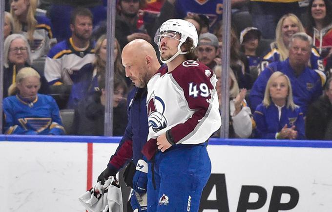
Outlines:
[{"label": "long blonde hair of smiling woman behind the grey-haired man", "polygon": [[271,43],[271,49],[277,47],[278,51],[280,53],[280,61],[284,61],[288,58],[288,46],[284,43],[284,40],[282,38],[282,25],[284,24],[284,21],[286,18],[289,18],[291,22],[295,23],[298,27],[299,31],[298,33],[305,32],[304,27],[297,16],[295,16],[292,13],[286,14],[283,17],[281,17],[278,21],[277,28],[275,29],[275,41]]}]

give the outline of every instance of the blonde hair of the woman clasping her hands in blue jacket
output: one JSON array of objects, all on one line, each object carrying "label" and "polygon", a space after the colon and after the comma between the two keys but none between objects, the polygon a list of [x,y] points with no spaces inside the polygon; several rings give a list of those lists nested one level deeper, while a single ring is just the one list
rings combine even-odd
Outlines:
[{"label": "blonde hair of the woman clasping her hands in blue jacket", "polygon": [[263,99],[263,105],[268,107],[271,105],[272,99],[270,96],[270,87],[271,84],[274,82],[274,80],[280,76],[283,76],[286,78],[287,81],[287,86],[288,86],[288,95],[287,95],[287,99],[286,99],[286,107],[287,108],[291,108],[292,110],[294,110],[296,107],[294,102],[293,102],[293,94],[292,94],[292,90],[291,90],[291,84],[290,84],[290,78],[288,78],[288,76],[280,71],[275,71],[274,73],[272,73],[272,75],[269,78],[268,83],[266,84],[265,87],[265,93],[264,93],[264,99]]}]

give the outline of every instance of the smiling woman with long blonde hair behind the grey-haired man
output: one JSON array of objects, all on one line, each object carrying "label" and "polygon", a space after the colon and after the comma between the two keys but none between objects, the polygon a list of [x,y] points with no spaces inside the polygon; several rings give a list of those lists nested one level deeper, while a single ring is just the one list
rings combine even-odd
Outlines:
[{"label": "smiling woman with long blonde hair behind the grey-haired man", "polygon": [[[260,70],[264,70],[269,63],[284,61],[288,57],[291,35],[304,32],[301,21],[294,14],[286,14],[280,18],[275,30],[276,39],[271,43],[271,51],[263,57]],[[308,65],[311,69],[324,71],[320,55],[315,48],[311,48],[311,56]]]}]

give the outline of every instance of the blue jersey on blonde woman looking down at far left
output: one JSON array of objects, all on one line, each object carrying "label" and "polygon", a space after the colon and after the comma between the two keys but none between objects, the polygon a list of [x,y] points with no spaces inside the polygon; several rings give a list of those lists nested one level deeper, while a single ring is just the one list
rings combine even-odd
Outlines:
[{"label": "blue jersey on blonde woman looking down at far left", "polygon": [[51,96],[38,94],[34,101],[18,95],[3,99],[5,134],[63,135],[59,107]]}]

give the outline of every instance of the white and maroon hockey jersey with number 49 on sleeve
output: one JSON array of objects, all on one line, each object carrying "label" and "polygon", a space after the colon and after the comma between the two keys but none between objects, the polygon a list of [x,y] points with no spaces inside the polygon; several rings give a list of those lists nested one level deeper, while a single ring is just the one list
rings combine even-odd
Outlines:
[{"label": "white and maroon hockey jersey with number 49 on sleeve", "polygon": [[221,126],[216,82],[215,74],[196,61],[171,72],[162,66],[147,84],[147,140],[170,130],[177,144],[207,141]]}]

